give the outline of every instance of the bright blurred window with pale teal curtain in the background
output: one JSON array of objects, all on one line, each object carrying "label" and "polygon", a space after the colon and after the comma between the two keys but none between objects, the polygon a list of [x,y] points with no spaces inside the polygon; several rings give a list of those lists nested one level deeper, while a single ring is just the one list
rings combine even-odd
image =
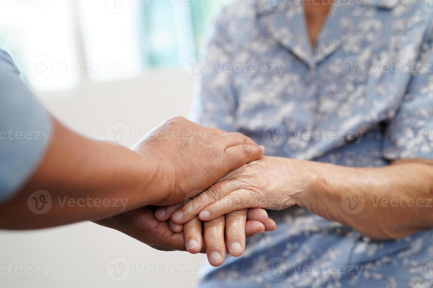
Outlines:
[{"label": "bright blurred window with pale teal curtain in the background", "polygon": [[1,0],[0,46],[39,91],[122,80],[183,67],[231,1]]}]

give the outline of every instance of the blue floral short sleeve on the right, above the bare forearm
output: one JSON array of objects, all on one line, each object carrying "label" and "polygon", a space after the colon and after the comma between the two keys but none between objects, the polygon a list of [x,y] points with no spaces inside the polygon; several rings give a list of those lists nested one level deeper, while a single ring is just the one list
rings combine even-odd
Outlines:
[{"label": "blue floral short sleeve on the right, above the bare forearm", "polygon": [[[431,31],[431,30],[430,30]],[[388,160],[433,159],[433,33],[421,47],[406,95],[382,142]]]}]

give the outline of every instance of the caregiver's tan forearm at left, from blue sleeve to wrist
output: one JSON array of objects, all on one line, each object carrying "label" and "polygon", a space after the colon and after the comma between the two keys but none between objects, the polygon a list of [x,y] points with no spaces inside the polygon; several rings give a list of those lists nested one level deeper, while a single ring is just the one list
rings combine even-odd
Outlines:
[{"label": "caregiver's tan forearm at left, from blue sleeve to wrist", "polygon": [[152,204],[168,190],[152,156],[87,139],[53,121],[41,165],[15,198],[0,206],[0,228],[44,228],[108,217]]}]

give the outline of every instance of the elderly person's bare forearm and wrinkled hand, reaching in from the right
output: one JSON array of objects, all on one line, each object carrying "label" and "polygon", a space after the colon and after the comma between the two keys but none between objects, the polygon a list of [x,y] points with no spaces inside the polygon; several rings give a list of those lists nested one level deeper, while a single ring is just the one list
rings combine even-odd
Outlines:
[{"label": "elderly person's bare forearm and wrinkled hand, reaching in from the right", "polygon": [[432,165],[411,159],[355,168],[263,157],[227,174],[171,219],[183,224],[199,215],[210,221],[249,207],[296,204],[375,240],[397,239],[432,227]]}]

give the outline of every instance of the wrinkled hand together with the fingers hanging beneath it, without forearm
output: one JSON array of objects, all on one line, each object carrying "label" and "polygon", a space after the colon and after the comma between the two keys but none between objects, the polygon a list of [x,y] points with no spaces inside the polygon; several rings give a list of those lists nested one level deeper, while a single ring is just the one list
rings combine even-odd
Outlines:
[{"label": "wrinkled hand together with the fingers hanging beneath it, without forearm", "polygon": [[174,233],[183,230],[187,251],[205,252],[212,266],[220,266],[226,253],[242,255],[246,237],[277,228],[264,209],[281,210],[297,204],[288,193],[289,175],[283,161],[263,157],[243,165],[189,201],[159,207],[155,218],[168,221]]}]

